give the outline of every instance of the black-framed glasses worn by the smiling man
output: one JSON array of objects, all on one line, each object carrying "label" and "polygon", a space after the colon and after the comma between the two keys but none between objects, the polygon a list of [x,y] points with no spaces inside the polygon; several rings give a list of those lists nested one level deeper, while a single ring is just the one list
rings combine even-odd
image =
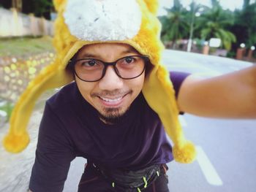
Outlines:
[{"label": "black-framed glasses worn by the smiling man", "polygon": [[145,71],[148,61],[146,55],[129,55],[109,63],[95,58],[80,58],[71,62],[80,80],[96,82],[104,77],[108,66],[113,66],[118,77],[124,80],[139,77]]}]

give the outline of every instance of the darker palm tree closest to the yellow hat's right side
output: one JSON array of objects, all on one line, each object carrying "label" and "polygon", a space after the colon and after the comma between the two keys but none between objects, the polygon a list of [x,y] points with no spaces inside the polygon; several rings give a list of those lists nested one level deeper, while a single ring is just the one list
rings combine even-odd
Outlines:
[{"label": "darker palm tree closest to the yellow hat's right side", "polygon": [[162,23],[161,37],[163,42],[172,41],[173,48],[176,48],[178,39],[188,37],[189,23],[186,18],[186,9],[179,1],[175,0],[174,6],[166,11],[167,15],[159,18]]}]

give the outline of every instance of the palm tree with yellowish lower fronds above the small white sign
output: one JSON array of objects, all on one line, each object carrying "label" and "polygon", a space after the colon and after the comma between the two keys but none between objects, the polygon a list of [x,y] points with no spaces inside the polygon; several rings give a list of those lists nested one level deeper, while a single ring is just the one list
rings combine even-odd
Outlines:
[{"label": "palm tree with yellowish lower fronds above the small white sign", "polygon": [[219,38],[226,50],[231,49],[233,42],[236,42],[236,36],[227,30],[233,25],[233,13],[223,10],[219,5],[219,1],[212,1],[213,8],[203,13],[198,18],[197,28],[201,28],[200,36],[203,39]]}]

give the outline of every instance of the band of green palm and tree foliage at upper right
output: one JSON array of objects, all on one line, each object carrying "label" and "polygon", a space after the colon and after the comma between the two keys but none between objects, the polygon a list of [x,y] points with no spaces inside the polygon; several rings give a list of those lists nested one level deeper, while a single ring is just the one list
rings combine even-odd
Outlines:
[{"label": "band of green palm and tree foliage at upper right", "polygon": [[175,45],[178,39],[189,39],[189,34],[207,41],[215,37],[222,40],[225,49],[233,51],[242,42],[246,47],[256,44],[256,2],[244,0],[244,6],[235,11],[223,9],[218,0],[211,0],[211,4],[211,8],[203,7],[200,17],[192,20],[201,5],[194,3],[190,4],[190,9],[185,9],[179,1],[174,1],[173,7],[166,9],[167,15],[159,18],[162,40]]}]

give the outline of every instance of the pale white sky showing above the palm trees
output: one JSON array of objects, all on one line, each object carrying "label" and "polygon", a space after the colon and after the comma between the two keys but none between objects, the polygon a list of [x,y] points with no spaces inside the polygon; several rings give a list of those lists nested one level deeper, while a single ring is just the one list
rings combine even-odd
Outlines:
[{"label": "pale white sky showing above the palm trees", "polygon": [[[181,0],[181,4],[184,5],[184,7],[187,7],[192,0]],[[204,4],[206,6],[211,6],[211,0],[195,0],[198,4]],[[251,0],[255,1],[255,0]],[[224,9],[241,9],[243,6],[243,0],[219,0],[220,4]],[[165,9],[163,7],[170,8],[173,6],[173,0],[159,0],[159,15],[165,15]]]}]

